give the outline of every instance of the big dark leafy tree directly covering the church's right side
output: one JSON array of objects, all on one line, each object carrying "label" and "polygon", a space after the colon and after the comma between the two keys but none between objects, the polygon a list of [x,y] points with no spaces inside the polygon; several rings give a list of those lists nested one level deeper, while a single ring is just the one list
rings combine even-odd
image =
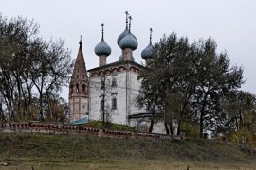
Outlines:
[{"label": "big dark leafy tree directly covering the church's right side", "polygon": [[194,51],[186,37],[178,38],[174,33],[155,43],[154,49],[152,62],[138,76],[142,87],[137,101],[148,111],[154,105],[163,108],[164,125],[169,134],[172,133],[172,119],[178,119],[180,131],[181,121],[186,116],[194,86],[191,72]]}]

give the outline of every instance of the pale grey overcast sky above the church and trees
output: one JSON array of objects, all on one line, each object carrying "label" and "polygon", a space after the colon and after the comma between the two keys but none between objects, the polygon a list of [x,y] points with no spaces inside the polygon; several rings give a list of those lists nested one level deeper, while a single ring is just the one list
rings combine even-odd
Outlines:
[{"label": "pale grey overcast sky above the church and trees", "polygon": [[[98,66],[94,47],[101,41],[101,23],[105,24],[105,42],[112,53],[107,62],[117,61],[117,44],[125,28],[125,11],[133,17],[132,33],[138,47],[134,57],[149,43],[172,32],[187,36],[190,42],[212,37],[218,51],[226,50],[232,65],[244,67],[246,83],[242,89],[256,93],[256,1],[255,0],[0,0],[0,12],[8,18],[23,16],[40,24],[40,35],[49,40],[64,38],[65,47],[75,59],[82,35],[87,69]],[[67,99],[67,90],[62,96]]]}]

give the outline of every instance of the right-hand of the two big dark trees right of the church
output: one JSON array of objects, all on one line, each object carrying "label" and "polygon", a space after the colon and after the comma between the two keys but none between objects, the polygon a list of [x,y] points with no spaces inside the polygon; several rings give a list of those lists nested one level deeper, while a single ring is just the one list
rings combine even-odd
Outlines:
[{"label": "right-hand of the two big dark trees right of the church", "polygon": [[217,53],[217,44],[211,38],[199,41],[195,63],[196,87],[192,94],[192,114],[198,121],[200,137],[206,130],[223,125],[225,115],[221,102],[241,87],[243,69],[231,66],[226,52]]}]

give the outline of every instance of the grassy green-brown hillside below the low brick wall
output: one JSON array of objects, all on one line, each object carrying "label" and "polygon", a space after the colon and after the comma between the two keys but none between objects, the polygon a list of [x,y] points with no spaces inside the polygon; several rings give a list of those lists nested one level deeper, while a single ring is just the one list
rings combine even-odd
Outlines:
[{"label": "grassy green-brown hillside below the low brick wall", "polygon": [[5,169],[256,169],[256,151],[202,139],[0,133],[1,161]]}]

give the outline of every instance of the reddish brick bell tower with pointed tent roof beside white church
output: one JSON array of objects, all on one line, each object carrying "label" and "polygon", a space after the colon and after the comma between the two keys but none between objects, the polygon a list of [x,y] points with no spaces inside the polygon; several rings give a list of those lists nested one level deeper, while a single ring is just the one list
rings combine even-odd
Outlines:
[{"label": "reddish brick bell tower with pointed tent roof beside white church", "polygon": [[88,115],[89,79],[82,54],[82,38],[79,42],[78,56],[69,83],[69,119],[80,120]]}]

